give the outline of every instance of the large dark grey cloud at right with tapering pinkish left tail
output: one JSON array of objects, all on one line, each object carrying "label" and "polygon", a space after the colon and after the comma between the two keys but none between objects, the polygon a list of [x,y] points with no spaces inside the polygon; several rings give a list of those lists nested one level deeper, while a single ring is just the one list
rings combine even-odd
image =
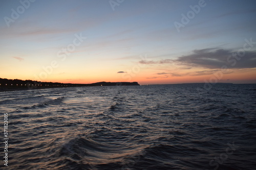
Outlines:
[{"label": "large dark grey cloud at right with tapering pinkish left tail", "polygon": [[[225,50],[222,48],[205,48],[194,50],[190,55],[177,59],[165,59],[159,61],[139,61],[140,64],[175,64],[191,67],[203,67],[208,69],[220,69],[223,65],[228,68],[255,68],[256,51],[245,51],[243,57],[239,57],[238,50]],[[239,51],[241,52],[241,51]],[[242,54],[242,53],[241,53]]]}]

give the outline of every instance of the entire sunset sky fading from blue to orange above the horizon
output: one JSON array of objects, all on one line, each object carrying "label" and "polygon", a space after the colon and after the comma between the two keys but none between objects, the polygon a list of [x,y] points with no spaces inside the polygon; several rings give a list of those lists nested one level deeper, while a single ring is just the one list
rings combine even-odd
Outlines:
[{"label": "entire sunset sky fading from blue to orange above the horizon", "polygon": [[254,0],[2,0],[0,18],[0,78],[256,83]]}]

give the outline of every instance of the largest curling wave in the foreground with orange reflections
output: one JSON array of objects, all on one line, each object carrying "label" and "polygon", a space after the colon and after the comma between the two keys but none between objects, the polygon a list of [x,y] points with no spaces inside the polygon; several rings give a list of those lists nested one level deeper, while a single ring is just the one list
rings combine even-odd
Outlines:
[{"label": "largest curling wave in the foreground with orange reflections", "polygon": [[[138,162],[144,146],[118,145],[77,135],[58,149],[60,165],[65,169],[125,169]],[[81,163],[82,162],[82,163]]]}]

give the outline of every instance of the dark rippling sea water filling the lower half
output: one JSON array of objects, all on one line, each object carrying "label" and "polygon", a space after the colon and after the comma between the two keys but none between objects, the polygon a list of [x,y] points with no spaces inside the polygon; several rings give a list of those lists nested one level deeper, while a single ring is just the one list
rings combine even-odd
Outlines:
[{"label": "dark rippling sea water filling the lower half", "polygon": [[256,169],[256,85],[8,91],[0,112],[1,169]]}]

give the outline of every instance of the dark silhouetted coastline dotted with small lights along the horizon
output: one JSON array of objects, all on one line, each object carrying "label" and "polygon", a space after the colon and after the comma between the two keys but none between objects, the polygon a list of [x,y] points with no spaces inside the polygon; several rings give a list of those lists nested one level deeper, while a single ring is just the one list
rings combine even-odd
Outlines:
[{"label": "dark silhouetted coastline dotted with small lights along the horizon", "polygon": [[84,86],[139,86],[138,82],[97,82],[91,84],[53,83],[38,82],[32,80],[2,79],[0,78],[0,91],[61,88],[61,87],[84,87]]}]

